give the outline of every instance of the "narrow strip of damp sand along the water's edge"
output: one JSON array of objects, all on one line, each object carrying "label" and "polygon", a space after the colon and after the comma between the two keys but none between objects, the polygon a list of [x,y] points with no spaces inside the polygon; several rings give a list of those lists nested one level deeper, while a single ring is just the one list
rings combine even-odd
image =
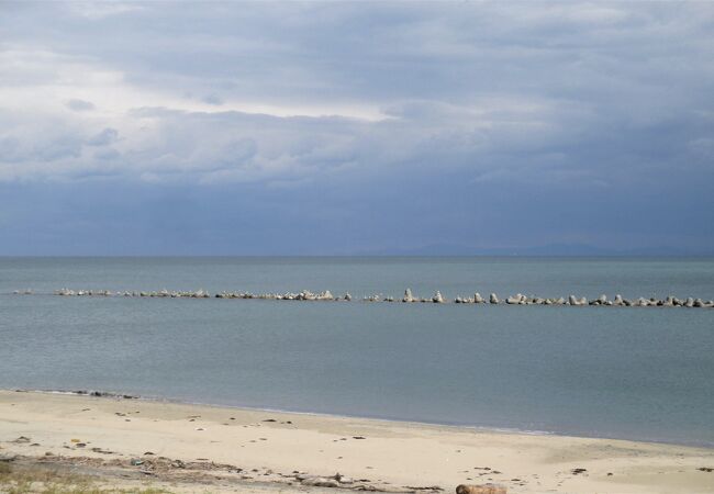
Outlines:
[{"label": "narrow strip of damp sand along the water's edge", "polygon": [[323,417],[323,418],[337,418],[337,419],[355,419],[355,420],[375,420],[388,424],[395,425],[410,425],[410,426],[424,426],[424,427],[446,427],[453,428],[456,430],[472,430],[476,433],[484,434],[506,434],[506,435],[524,435],[524,436],[536,436],[536,437],[566,437],[566,438],[576,438],[576,439],[602,439],[602,440],[615,440],[615,441],[631,441],[639,442],[647,445],[660,445],[660,446],[672,446],[672,447],[684,447],[684,448],[701,448],[710,449],[714,451],[714,444],[709,442],[676,442],[668,441],[663,439],[643,439],[643,438],[627,438],[627,437],[614,437],[614,436],[598,436],[598,435],[584,435],[584,434],[568,434],[560,433],[557,430],[539,430],[539,429],[522,429],[518,427],[499,427],[499,426],[479,426],[471,424],[459,424],[459,423],[440,423],[440,422],[428,422],[428,420],[414,420],[414,419],[402,419],[393,417],[380,417],[380,416],[370,416],[370,415],[349,415],[349,414],[337,414],[337,413],[327,413],[327,412],[305,412],[305,411],[294,411],[294,409],[283,409],[283,408],[270,408],[261,406],[247,406],[247,405],[232,405],[223,403],[208,403],[208,402],[197,402],[191,400],[181,400],[166,396],[147,396],[141,394],[132,393],[121,393],[113,391],[99,391],[99,390],[31,390],[31,389],[3,389],[0,388],[0,392],[16,392],[16,393],[38,393],[38,394],[57,394],[57,395],[68,395],[68,396],[90,396],[90,397],[107,397],[107,398],[129,398],[137,400],[153,403],[168,403],[175,405],[188,405],[188,406],[205,406],[214,408],[227,408],[245,412],[264,412],[264,413],[276,413],[276,414],[287,414],[287,415],[304,415],[310,417]]}]

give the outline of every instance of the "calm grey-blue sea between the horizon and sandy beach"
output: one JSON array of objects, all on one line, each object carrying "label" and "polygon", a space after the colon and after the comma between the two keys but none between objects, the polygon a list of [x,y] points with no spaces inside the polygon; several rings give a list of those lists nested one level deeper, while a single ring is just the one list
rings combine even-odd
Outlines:
[{"label": "calm grey-blue sea between the horizon and sandy beach", "polygon": [[714,259],[0,258],[0,388],[714,447],[714,310],[12,295],[714,299]]}]

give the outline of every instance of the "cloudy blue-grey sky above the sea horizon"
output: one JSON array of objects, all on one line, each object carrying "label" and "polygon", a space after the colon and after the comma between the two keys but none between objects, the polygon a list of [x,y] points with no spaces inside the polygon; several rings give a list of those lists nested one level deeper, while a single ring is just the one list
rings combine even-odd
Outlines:
[{"label": "cloudy blue-grey sky above the sea horizon", "polygon": [[714,3],[0,0],[0,255],[712,255]]}]

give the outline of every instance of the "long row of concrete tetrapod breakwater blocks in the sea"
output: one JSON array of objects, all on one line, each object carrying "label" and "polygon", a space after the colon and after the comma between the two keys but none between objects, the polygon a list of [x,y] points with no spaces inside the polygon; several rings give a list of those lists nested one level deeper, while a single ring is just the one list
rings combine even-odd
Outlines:
[{"label": "long row of concrete tetrapod breakwater blocks in the sea", "polygon": [[[34,295],[37,294],[33,290],[15,290],[16,295]],[[473,295],[456,296],[454,300],[448,300],[442,295],[440,291],[436,291],[429,297],[417,296],[412,293],[411,289],[406,289],[401,297],[394,297],[382,294],[369,294],[358,299],[354,299],[352,294],[345,293],[343,295],[333,295],[330,290],[322,292],[311,292],[302,290],[300,292],[285,292],[285,293],[250,293],[239,291],[223,291],[211,294],[205,290],[197,291],[111,291],[111,290],[72,290],[63,288],[53,292],[58,296],[124,296],[124,297],[149,297],[149,299],[237,299],[237,300],[275,300],[275,301],[309,301],[309,302],[401,302],[401,303],[434,303],[434,304],[488,304],[488,305],[570,305],[570,306],[613,306],[613,307],[688,307],[688,308],[714,308],[714,301],[703,300],[699,297],[677,297],[668,295],[665,299],[657,297],[637,297],[625,299],[617,294],[614,299],[607,299],[602,294],[595,299],[588,299],[585,296],[559,296],[559,297],[542,297],[535,295],[524,295],[516,293],[514,295],[499,297],[498,294],[491,293],[488,296],[482,296],[476,292]]]}]

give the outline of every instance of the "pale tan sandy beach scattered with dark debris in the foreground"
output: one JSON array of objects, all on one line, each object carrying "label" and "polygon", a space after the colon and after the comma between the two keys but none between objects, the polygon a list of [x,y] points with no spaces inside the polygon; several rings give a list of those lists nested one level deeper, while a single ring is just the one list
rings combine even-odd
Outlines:
[{"label": "pale tan sandy beach scattered with dark debris in the foreground", "polygon": [[353,490],[714,493],[712,449],[0,391],[0,459],[14,456],[103,485],[172,492],[339,492],[295,479],[339,472]]}]

